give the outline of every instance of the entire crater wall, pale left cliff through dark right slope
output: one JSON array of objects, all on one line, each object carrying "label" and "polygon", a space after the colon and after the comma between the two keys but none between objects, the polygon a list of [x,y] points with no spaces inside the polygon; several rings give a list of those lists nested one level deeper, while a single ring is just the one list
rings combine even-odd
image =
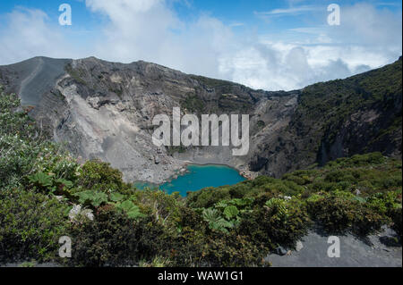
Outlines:
[{"label": "entire crater wall, pale left cliff through dark right slope", "polygon": [[[395,69],[401,74],[401,59],[398,64]],[[56,141],[82,160],[111,163],[128,181],[160,183],[189,162],[225,163],[253,177],[280,176],[315,162],[362,153],[365,147],[401,156],[401,127],[379,138],[390,120],[400,116],[401,122],[401,80],[393,91],[393,108],[372,105],[352,110],[338,127],[325,124],[321,114],[308,115],[305,90],[253,90],[153,63],[37,57],[1,66],[0,83],[21,96],[23,105],[34,107],[30,115]],[[249,153],[233,156],[232,147],[154,146],[152,119],[160,113],[171,117],[174,107],[199,118],[211,113],[249,114]],[[328,139],[330,133],[336,138]],[[368,143],[374,138],[377,143]]]}]

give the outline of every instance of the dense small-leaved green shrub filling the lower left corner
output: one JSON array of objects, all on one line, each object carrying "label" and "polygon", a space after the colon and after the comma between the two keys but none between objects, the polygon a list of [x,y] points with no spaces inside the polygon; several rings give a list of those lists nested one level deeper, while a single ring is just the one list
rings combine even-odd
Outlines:
[{"label": "dense small-leaved green shrub filling the lower left corner", "polygon": [[0,199],[0,258],[48,261],[65,235],[66,205],[39,193],[10,190]]}]

